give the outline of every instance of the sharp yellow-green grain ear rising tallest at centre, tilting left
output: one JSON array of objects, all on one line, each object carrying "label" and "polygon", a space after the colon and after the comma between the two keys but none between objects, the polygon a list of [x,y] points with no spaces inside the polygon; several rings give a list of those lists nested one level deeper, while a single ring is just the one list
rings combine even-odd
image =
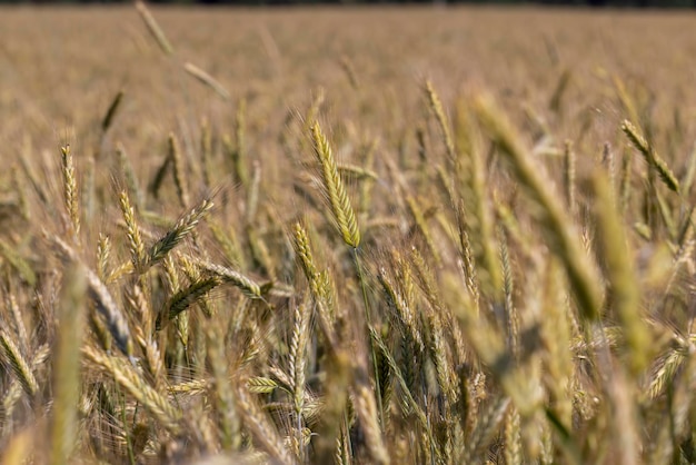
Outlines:
[{"label": "sharp yellow-green grain ear rising tallest at centre, tilting left", "polygon": [[350,205],[348,192],[338,174],[338,165],[334,158],[331,147],[321,131],[318,122],[311,126],[311,136],[315,142],[315,155],[321,167],[324,188],[331,202],[331,212],[338,225],[344,241],[352,248],[360,245],[360,229],[355,211]]}]

